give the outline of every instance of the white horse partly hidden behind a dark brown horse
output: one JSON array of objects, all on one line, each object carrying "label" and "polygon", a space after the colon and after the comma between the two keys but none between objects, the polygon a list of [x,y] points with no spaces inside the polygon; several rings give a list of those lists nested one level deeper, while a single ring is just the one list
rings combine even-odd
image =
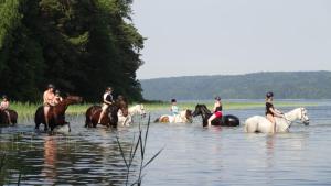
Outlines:
[{"label": "white horse partly hidden behind a dark brown horse", "polygon": [[132,123],[132,117],[135,114],[140,114],[141,117],[146,117],[145,107],[142,103],[138,103],[129,108],[129,113],[127,117],[124,117],[121,110],[118,111],[118,124],[120,125],[130,125]]}]

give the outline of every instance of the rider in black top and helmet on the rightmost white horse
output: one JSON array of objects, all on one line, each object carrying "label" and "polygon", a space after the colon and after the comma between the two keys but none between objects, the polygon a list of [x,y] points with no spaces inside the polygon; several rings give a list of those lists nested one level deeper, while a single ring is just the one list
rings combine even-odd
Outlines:
[{"label": "rider in black top and helmet on the rightmost white horse", "polygon": [[271,91],[266,94],[266,118],[271,122],[271,131],[276,132],[276,120],[275,117],[282,118],[284,113],[280,110],[277,110],[273,103],[274,94]]}]

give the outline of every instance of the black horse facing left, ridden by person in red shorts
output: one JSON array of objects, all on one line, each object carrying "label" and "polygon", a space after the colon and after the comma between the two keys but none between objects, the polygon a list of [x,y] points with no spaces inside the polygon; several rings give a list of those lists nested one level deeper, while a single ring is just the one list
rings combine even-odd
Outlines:
[{"label": "black horse facing left, ridden by person in red shorts", "polygon": [[[207,125],[209,118],[213,113],[206,108],[205,105],[196,105],[193,112],[193,117],[201,116],[203,127]],[[212,121],[212,125],[223,125],[223,127],[237,127],[241,124],[239,119],[233,114],[226,114],[222,118],[216,118]]]}]

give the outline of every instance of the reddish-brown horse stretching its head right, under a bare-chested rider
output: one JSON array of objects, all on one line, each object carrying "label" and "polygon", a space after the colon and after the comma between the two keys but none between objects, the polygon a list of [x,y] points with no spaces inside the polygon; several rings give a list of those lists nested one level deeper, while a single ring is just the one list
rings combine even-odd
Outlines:
[{"label": "reddish-brown horse stretching its head right, under a bare-chested rider", "polygon": [[[53,131],[53,129],[56,128],[57,125],[68,124],[70,127],[70,123],[65,121],[65,110],[70,105],[82,102],[82,100],[83,100],[82,97],[78,96],[67,96],[61,102],[58,102],[58,105],[51,107],[47,113],[49,127],[51,128],[51,131]],[[46,122],[45,122],[43,108],[44,107],[41,106],[36,109],[34,114],[34,123],[35,123],[35,129],[38,130],[39,130],[39,125],[43,123],[45,125],[44,131],[46,132],[49,128],[47,124],[45,124]]]}]

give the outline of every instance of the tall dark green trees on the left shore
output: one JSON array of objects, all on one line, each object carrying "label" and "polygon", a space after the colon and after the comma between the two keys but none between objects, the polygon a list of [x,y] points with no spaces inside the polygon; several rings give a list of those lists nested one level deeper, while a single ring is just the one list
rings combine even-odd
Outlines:
[{"label": "tall dark green trees on the left shore", "polygon": [[86,101],[106,86],[141,100],[132,0],[0,0],[0,94],[40,101],[47,83]]}]

